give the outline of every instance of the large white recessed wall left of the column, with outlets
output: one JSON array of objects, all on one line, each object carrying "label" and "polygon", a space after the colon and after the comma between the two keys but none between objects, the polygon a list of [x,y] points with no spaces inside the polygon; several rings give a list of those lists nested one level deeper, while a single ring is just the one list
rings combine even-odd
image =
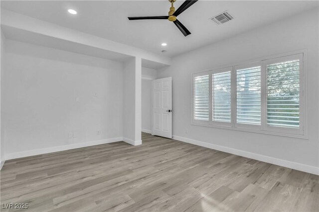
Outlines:
[{"label": "large white recessed wall left of the column, with outlets", "polygon": [[[9,158],[43,148],[121,140],[122,63],[8,39],[5,56],[1,115]],[[68,139],[73,132],[76,138]]]}]

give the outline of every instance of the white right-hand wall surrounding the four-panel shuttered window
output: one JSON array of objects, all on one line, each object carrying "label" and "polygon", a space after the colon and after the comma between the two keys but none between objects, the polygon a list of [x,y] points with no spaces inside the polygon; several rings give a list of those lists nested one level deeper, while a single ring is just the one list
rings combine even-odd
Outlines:
[{"label": "white right-hand wall surrounding the four-panel shuttered window", "polygon": [[[318,173],[318,37],[316,8],[173,58],[170,67],[158,70],[158,78],[172,76],[174,138],[241,150],[260,159]],[[308,140],[190,125],[191,72],[303,49],[308,51]]]}]

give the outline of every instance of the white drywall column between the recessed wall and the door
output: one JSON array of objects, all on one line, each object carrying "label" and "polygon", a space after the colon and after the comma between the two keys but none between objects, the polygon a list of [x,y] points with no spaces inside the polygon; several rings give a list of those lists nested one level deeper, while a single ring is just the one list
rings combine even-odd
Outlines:
[{"label": "white drywall column between the recessed wall and the door", "polygon": [[123,141],[142,144],[142,60],[133,58],[123,66]]}]

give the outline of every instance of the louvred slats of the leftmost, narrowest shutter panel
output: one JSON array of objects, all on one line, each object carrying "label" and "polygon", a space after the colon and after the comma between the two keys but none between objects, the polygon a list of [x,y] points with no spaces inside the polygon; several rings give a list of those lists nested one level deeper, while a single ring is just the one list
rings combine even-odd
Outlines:
[{"label": "louvred slats of the leftmost, narrowest shutter panel", "polygon": [[209,120],[209,75],[194,77],[194,120]]}]

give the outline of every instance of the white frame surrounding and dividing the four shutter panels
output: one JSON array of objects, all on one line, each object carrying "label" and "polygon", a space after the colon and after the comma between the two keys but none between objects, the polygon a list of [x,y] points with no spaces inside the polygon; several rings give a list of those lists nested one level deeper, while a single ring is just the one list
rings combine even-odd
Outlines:
[{"label": "white frame surrounding and dividing the four shutter panels", "polygon": [[[285,127],[274,127],[267,126],[267,64],[274,64],[276,62],[284,62],[289,60],[299,60],[300,61],[300,123],[299,128],[285,128]],[[236,69],[241,68],[250,68],[253,66],[261,66],[261,125],[249,125],[236,123],[236,109],[237,109],[237,85],[236,85]],[[230,70],[231,69],[231,70]],[[231,71],[231,123],[227,122],[217,122],[212,121],[212,86],[211,86],[211,74]],[[203,120],[194,120],[194,84],[193,80],[195,76],[200,75],[209,75],[209,121]],[[270,135],[278,135],[285,137],[301,138],[308,139],[308,129],[307,129],[307,120],[308,120],[308,111],[307,111],[307,50],[295,51],[286,54],[280,54],[270,57],[264,57],[256,60],[251,60],[243,62],[240,64],[231,64],[228,66],[219,67],[216,69],[208,69],[201,72],[193,72],[190,75],[191,79],[191,125],[204,126],[204,127],[213,127],[213,128],[222,128],[230,129],[237,131],[253,132],[253,133],[262,133]]]}]

